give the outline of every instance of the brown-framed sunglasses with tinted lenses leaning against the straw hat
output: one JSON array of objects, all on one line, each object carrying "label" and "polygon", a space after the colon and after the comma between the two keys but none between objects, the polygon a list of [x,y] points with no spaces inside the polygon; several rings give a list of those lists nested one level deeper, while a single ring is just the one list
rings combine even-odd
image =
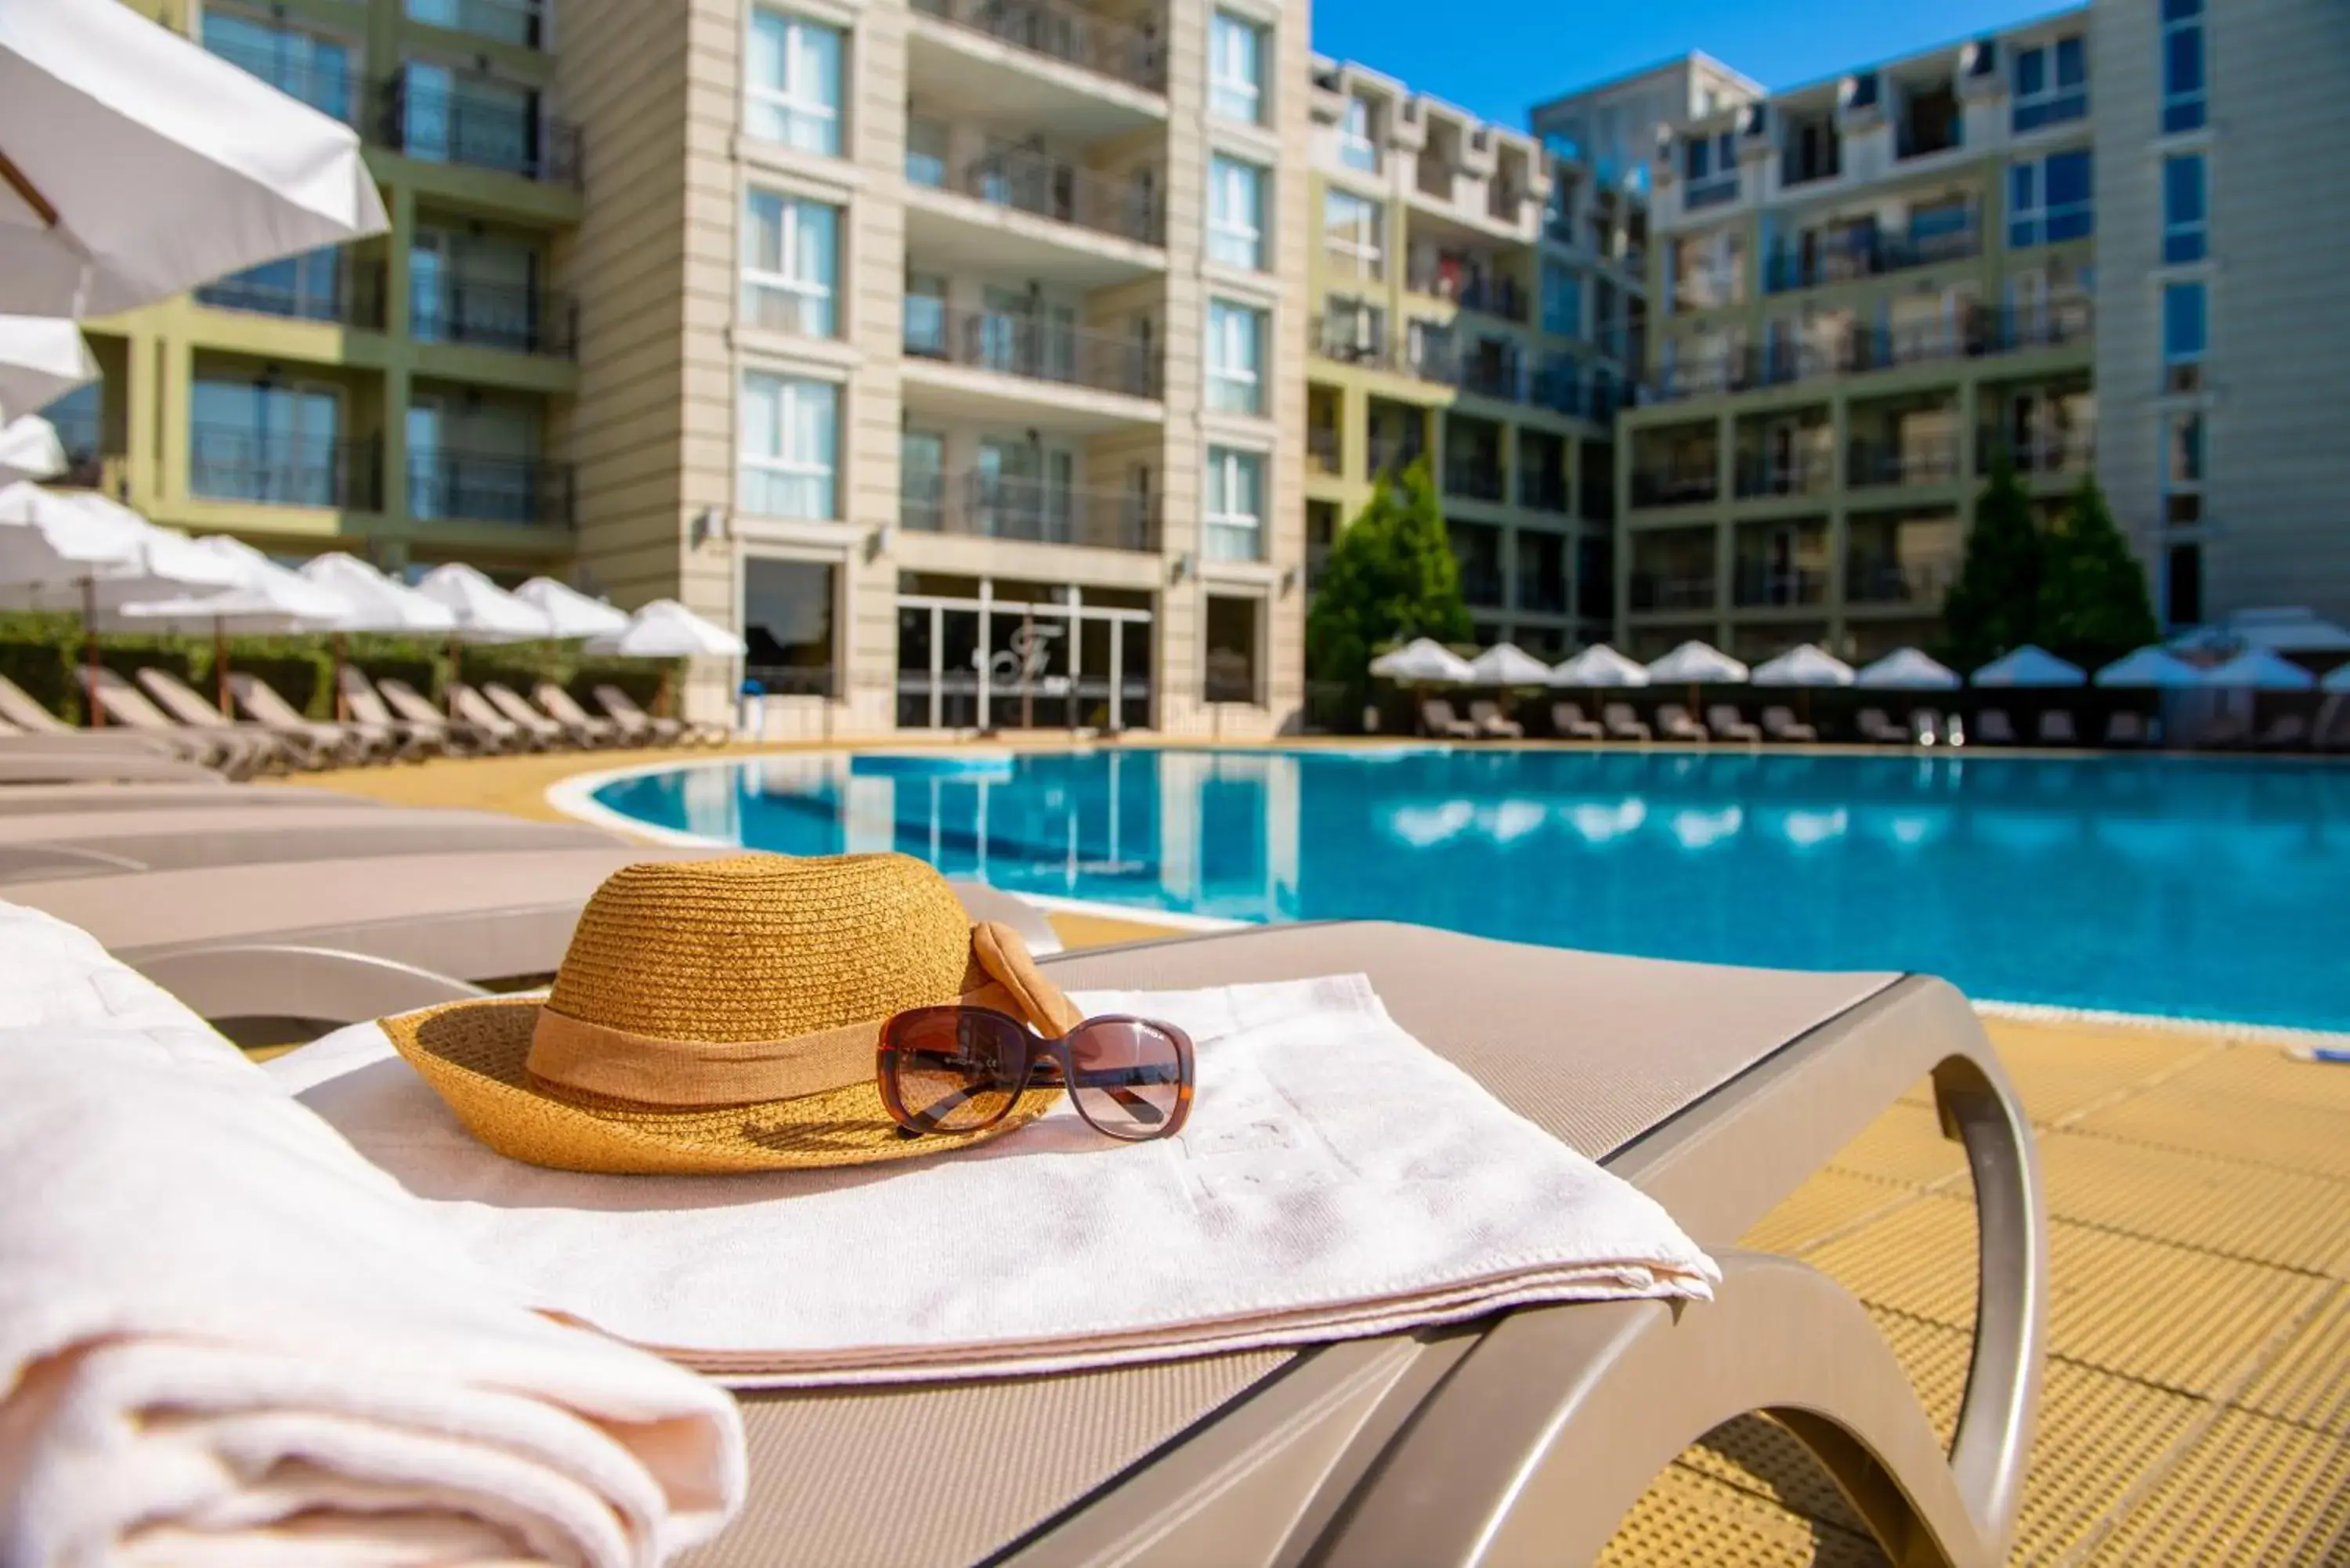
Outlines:
[{"label": "brown-framed sunglasses with tinted lenses leaning against the straw hat", "polygon": [[1039,1070],[1109,1138],[1173,1138],[1191,1114],[1191,1037],[1166,1023],[1104,1016],[1041,1039],[1010,1013],[949,1004],[881,1025],[881,1105],[902,1138],[994,1126]]}]

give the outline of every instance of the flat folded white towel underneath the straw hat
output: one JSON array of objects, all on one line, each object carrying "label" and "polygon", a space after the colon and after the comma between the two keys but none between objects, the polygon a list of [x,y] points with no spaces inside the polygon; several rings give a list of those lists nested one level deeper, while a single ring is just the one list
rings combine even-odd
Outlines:
[{"label": "flat folded white towel underneath the straw hat", "polygon": [[1112,1145],[1062,1103],[926,1161],[576,1175],[475,1143],[374,1025],[268,1072],[540,1307],[740,1385],[1304,1345],[1718,1279],[1652,1199],[1415,1041],[1363,976],[1076,1004],[1191,1034],[1180,1138]]}]

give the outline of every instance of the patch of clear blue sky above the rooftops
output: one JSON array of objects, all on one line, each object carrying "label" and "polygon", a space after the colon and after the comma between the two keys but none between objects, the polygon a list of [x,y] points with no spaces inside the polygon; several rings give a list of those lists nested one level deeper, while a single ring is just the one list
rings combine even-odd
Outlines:
[{"label": "patch of clear blue sky above the rooftops", "polygon": [[2052,9],[2059,0],[1318,0],[1314,47],[1525,125],[1542,99],[1687,49],[1779,89]]}]

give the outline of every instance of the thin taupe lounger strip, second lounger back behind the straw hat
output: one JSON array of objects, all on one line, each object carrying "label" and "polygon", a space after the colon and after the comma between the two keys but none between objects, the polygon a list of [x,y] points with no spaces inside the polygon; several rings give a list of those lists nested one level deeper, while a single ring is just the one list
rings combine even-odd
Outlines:
[{"label": "thin taupe lounger strip, second lounger back behind the straw hat", "polygon": [[[585,823],[531,823],[491,811],[390,806],[369,811],[345,806],[52,811],[0,818],[0,889],[16,882],[120,877],[197,865],[602,849],[611,844],[623,844],[623,839]],[[5,896],[0,891],[0,898]]]}]

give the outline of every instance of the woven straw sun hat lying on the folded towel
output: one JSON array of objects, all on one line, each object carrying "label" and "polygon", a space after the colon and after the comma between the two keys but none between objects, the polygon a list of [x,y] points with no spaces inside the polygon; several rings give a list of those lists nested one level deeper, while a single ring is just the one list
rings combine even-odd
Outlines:
[{"label": "woven straw sun hat lying on the folded towel", "polygon": [[545,1001],[454,1001],[383,1032],[475,1138],[533,1166],[858,1166],[1050,1105],[1032,1091],[982,1133],[898,1133],[874,1086],[881,1023],[966,997],[1050,1034],[1079,1023],[1020,936],[975,926],[921,860],[728,856],[613,872]]}]

